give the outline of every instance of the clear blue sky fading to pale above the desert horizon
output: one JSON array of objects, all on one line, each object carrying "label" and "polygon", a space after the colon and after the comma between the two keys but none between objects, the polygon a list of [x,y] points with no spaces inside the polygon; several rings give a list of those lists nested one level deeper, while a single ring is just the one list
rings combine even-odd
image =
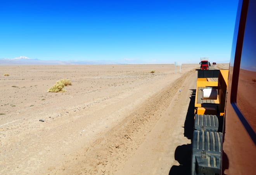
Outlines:
[{"label": "clear blue sky fading to pale above the desert horizon", "polygon": [[0,58],[228,63],[238,0],[1,0]]}]

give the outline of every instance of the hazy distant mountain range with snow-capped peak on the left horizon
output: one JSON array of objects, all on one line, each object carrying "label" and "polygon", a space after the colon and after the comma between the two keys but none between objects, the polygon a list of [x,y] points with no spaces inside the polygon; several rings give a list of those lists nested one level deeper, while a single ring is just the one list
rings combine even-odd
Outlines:
[{"label": "hazy distant mountain range with snow-capped peak on the left horizon", "polygon": [[122,64],[109,63],[106,61],[58,61],[58,60],[40,60],[31,59],[26,56],[16,58],[0,58],[0,65],[105,65]]}]

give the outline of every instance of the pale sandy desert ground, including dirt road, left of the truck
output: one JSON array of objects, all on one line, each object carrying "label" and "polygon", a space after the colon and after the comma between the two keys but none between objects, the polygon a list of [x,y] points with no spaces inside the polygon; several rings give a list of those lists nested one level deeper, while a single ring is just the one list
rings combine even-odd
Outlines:
[{"label": "pale sandy desert ground, including dirt road, left of the truck", "polygon": [[198,68],[0,66],[0,174],[174,174]]}]

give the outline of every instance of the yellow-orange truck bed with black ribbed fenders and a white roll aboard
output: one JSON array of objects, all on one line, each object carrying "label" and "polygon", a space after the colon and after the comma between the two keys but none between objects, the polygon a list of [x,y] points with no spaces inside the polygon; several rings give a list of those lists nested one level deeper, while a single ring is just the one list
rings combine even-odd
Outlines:
[{"label": "yellow-orange truck bed with black ribbed fenders and a white roll aboard", "polygon": [[197,72],[192,175],[220,175],[228,70]]}]

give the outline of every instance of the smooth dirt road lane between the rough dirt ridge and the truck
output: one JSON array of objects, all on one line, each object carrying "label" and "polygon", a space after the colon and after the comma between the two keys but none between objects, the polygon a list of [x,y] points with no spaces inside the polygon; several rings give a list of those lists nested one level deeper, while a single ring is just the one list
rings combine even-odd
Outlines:
[{"label": "smooth dirt road lane between the rough dirt ridge and the truck", "polygon": [[[196,77],[197,72],[192,70],[178,80],[178,89],[182,91],[173,91],[173,96],[169,99],[170,101],[168,100],[169,105],[160,113],[161,117],[151,132],[145,137],[135,154],[116,174],[176,174],[171,171],[173,165],[180,165],[175,160],[175,151],[179,146],[191,143],[191,138],[187,133],[192,133],[192,125],[187,128],[184,125],[186,117],[187,120],[193,120],[194,101],[191,97],[196,88]],[[167,87],[166,92],[168,93],[172,89],[171,86]],[[165,92],[163,91],[163,93]],[[163,96],[165,95],[163,94]],[[192,111],[191,109],[189,111],[189,104],[193,105]],[[191,120],[190,124],[192,124]],[[187,130],[185,131],[185,129]],[[184,151],[189,152],[190,150]],[[186,156],[190,158],[190,154]]]}]

